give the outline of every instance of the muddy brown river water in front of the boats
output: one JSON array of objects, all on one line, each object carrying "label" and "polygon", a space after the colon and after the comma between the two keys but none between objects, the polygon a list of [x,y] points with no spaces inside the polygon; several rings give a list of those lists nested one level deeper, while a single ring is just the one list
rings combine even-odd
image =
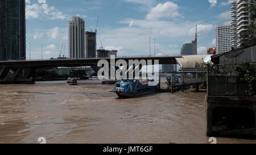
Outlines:
[{"label": "muddy brown river water in front of the boats", "polygon": [[112,85],[64,83],[0,85],[0,143],[209,143],[205,92],[119,99]]}]

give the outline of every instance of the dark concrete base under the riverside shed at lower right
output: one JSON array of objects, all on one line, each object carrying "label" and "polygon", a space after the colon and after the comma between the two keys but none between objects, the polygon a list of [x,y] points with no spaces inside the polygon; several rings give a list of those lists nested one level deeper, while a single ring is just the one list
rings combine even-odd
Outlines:
[{"label": "dark concrete base under the riverside shed at lower right", "polygon": [[207,136],[255,139],[256,97],[207,96]]}]

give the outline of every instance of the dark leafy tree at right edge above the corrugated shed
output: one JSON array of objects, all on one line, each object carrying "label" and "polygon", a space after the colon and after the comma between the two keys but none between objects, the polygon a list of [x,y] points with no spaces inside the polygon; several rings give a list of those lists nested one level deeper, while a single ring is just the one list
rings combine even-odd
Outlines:
[{"label": "dark leafy tree at right edge above the corrugated shed", "polygon": [[251,13],[251,25],[249,26],[248,30],[243,31],[240,33],[239,40],[241,47],[248,47],[250,45],[256,44],[256,3],[250,5],[248,7],[248,11]]}]

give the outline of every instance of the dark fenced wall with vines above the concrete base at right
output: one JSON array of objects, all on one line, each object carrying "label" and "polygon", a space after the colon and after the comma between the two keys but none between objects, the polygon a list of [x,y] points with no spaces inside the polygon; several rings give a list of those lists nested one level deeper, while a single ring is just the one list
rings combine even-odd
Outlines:
[{"label": "dark fenced wall with vines above the concrete base at right", "polygon": [[247,77],[255,82],[256,64],[208,65],[207,74],[208,95],[255,95],[255,83]]}]

